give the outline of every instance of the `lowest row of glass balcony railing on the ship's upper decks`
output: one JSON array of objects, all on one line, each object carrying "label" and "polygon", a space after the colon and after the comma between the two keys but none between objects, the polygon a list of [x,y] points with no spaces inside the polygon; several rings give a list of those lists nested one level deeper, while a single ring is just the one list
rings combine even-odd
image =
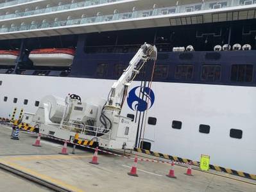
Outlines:
[{"label": "lowest row of glass balcony railing on the ship's upper decks", "polygon": [[[111,0],[102,0],[102,1],[90,1],[90,3],[109,3]],[[121,0],[117,0],[121,1]],[[149,16],[157,16],[157,15],[171,15],[173,13],[183,13],[183,12],[197,12],[201,10],[210,10],[210,9],[218,9],[218,8],[226,8],[230,6],[241,6],[241,4],[246,4],[248,2],[256,3],[256,0],[228,0],[228,1],[207,1],[205,3],[195,3],[195,4],[185,4],[178,6],[170,6],[164,8],[154,8],[151,10],[133,10],[132,12],[124,12],[118,13],[114,12],[111,15],[97,15],[93,17],[81,17],[79,19],[67,19],[67,20],[58,20],[58,21],[47,21],[44,20],[41,23],[35,24],[22,24],[22,26],[15,27],[7,27],[1,28],[1,33],[8,33],[10,31],[26,31],[30,29],[47,29],[53,27],[60,26],[73,26],[80,24],[90,24],[90,23],[98,23],[98,22],[112,22],[114,20],[126,20],[140,17],[149,17]],[[87,2],[87,1],[86,1]],[[64,6],[65,7],[65,6]],[[53,10],[51,8],[51,10]],[[6,15],[3,15],[6,16]],[[83,16],[83,15],[82,15]]]}]

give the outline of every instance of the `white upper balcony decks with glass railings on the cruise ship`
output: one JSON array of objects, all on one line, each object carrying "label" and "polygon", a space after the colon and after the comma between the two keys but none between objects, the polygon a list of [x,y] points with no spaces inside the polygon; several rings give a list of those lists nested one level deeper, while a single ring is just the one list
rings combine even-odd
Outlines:
[{"label": "white upper balcony decks with glass railings on the cruise ship", "polygon": [[[112,29],[150,28],[153,26],[176,26],[183,24],[201,24],[226,20],[255,18],[256,0],[222,1],[176,1],[170,3],[159,0],[157,4],[146,1],[90,0],[58,2],[52,6],[44,1],[45,8],[36,6],[31,10],[24,8],[14,13],[6,12],[0,16],[0,38],[19,32],[20,37],[46,36],[47,30],[53,35],[90,33]],[[134,6],[137,2],[137,6]],[[191,2],[191,1],[189,1]],[[113,6],[111,3],[115,3]],[[104,6],[99,6],[105,4]],[[75,12],[73,11],[76,10]],[[241,14],[239,14],[241,12]],[[12,15],[12,16],[10,16]],[[17,17],[13,17],[16,15]],[[43,18],[43,19],[42,19]],[[107,26],[107,27],[105,27]],[[35,35],[32,32],[38,31]],[[26,33],[26,35],[25,35]],[[5,35],[6,34],[6,35]],[[24,34],[24,35],[22,35]],[[17,35],[15,35],[17,37]]]}]

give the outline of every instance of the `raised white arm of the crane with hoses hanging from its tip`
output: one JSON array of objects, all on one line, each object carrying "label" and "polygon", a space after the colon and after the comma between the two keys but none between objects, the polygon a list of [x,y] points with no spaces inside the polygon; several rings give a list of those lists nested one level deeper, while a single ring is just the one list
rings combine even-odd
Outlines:
[{"label": "raised white arm of the crane with hoses hanging from its tip", "polygon": [[145,43],[141,45],[139,51],[133,56],[122,76],[112,85],[105,107],[121,111],[128,86],[149,60],[157,60],[157,47]]}]

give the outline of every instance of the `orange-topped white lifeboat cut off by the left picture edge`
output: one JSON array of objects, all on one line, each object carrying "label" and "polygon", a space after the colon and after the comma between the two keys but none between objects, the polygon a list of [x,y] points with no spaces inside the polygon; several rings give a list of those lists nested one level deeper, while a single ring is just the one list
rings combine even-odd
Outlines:
[{"label": "orange-topped white lifeboat cut off by the left picture edge", "polygon": [[0,65],[15,65],[19,51],[0,50]]}]

